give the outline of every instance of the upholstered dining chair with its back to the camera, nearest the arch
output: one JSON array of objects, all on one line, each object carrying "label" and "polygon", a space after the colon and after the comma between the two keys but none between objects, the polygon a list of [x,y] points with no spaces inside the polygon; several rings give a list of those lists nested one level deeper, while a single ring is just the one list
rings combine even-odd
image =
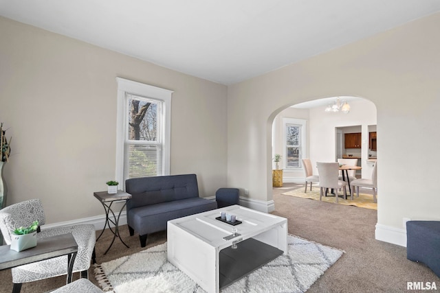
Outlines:
[{"label": "upholstered dining chair with its back to the camera, nearest the arch", "polygon": [[347,200],[347,182],[339,180],[339,163],[323,163],[317,162],[318,166],[318,174],[319,174],[319,187],[320,187],[320,196],[319,200],[322,200],[322,194],[327,196],[327,190],[334,189],[336,202],[338,202],[338,191],[344,188],[344,198]]}]

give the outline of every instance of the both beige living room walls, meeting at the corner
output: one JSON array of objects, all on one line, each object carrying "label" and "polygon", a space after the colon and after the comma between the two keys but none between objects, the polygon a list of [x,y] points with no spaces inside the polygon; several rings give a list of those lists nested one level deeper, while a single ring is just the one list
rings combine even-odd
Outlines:
[{"label": "both beige living room walls, meeting at the corner", "polygon": [[[10,127],[8,203],[41,198],[47,222],[102,215],[115,173],[115,77],[174,91],[171,173],[272,200],[272,121],[299,102],[370,99],[380,133],[378,226],[437,219],[440,14],[226,86],[0,18],[0,121]],[[226,101],[227,97],[227,101]],[[242,195],[243,196],[243,195]]]}]

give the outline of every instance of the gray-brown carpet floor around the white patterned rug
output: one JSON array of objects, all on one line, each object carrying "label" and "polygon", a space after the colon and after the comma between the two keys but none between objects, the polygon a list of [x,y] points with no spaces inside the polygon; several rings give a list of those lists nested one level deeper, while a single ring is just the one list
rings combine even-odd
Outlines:
[{"label": "gray-brown carpet floor around the white patterned rug", "polygon": [[[345,251],[308,292],[417,292],[406,289],[407,282],[413,281],[435,282],[439,290],[429,292],[440,292],[440,278],[423,263],[406,259],[406,248],[375,239],[377,211],[282,195],[296,188],[304,186],[285,183],[274,188],[273,213],[288,219],[289,233]],[[103,255],[112,237],[109,231],[104,231],[96,244],[98,263],[144,249],[140,248],[137,235],[129,236],[126,226],[121,226],[120,231],[130,248],[116,239],[109,253]],[[166,232],[153,233],[148,236],[147,248],[163,242]],[[75,274],[74,279],[78,277]],[[93,268],[89,270],[89,279],[96,283]],[[25,283],[21,292],[47,292],[64,283],[65,277]],[[10,270],[0,271],[0,292],[12,292]]]}]

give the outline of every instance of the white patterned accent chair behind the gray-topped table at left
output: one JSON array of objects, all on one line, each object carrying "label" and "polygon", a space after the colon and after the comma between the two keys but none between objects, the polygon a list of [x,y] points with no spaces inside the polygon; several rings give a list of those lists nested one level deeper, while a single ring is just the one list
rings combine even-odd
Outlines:
[{"label": "white patterned accent chair behind the gray-topped table at left", "polygon": [[[29,226],[35,220],[40,226],[45,224],[45,214],[40,199],[25,200],[0,210],[0,230],[6,244],[11,244],[14,228]],[[89,277],[91,261],[95,261],[96,231],[93,224],[78,224],[45,229],[39,227],[37,239],[72,233],[78,244],[78,253],[74,262],[73,272],[80,272],[82,278]],[[37,241],[38,246],[38,241]],[[67,255],[38,261],[11,269],[13,292],[20,292],[21,284],[51,277],[67,275]]]}]

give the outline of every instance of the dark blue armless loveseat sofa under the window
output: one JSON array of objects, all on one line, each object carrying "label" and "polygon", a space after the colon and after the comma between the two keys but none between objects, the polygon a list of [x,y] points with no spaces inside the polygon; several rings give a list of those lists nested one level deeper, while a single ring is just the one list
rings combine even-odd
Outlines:
[{"label": "dark blue armless loveseat sofa under the window", "polygon": [[132,196],[126,204],[129,232],[139,234],[141,247],[149,233],[166,230],[169,220],[217,209],[215,200],[199,197],[196,174],[131,178],[125,190]]}]

